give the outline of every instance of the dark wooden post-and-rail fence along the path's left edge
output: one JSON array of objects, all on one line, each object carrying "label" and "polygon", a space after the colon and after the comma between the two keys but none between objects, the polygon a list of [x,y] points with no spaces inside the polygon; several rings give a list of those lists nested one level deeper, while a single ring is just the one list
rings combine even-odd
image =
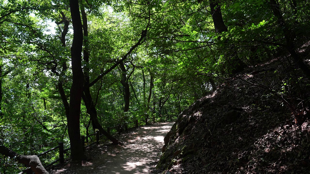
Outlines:
[{"label": "dark wooden post-and-rail fence along the path's left edge", "polygon": [[[108,128],[107,128],[107,129],[108,129],[108,133],[110,134],[110,132],[111,132],[112,129],[117,128],[117,132],[114,133],[114,134],[111,134],[111,135],[113,136],[113,135],[115,135],[115,134],[121,134],[121,133],[122,133],[122,128],[125,128],[125,131],[127,131],[128,129],[130,129],[130,128],[128,128],[128,124],[131,124],[131,123],[135,123],[135,126],[134,126],[134,127],[131,127],[131,128],[138,128],[138,127],[139,127],[139,124],[143,124],[143,123],[145,123],[145,125],[148,125],[148,124],[149,124],[149,119],[150,119],[150,118],[153,118],[152,121],[153,121],[153,123],[155,123],[155,117],[149,117],[149,118],[145,118],[145,120],[142,121],[142,122],[138,122],[138,120],[135,120],[135,121],[131,121],[131,122],[125,123],[125,124],[123,124],[123,125],[117,124],[116,126],[108,127]],[[168,120],[169,120],[169,116],[166,115],[165,121],[168,121]],[[170,115],[170,120],[172,121],[172,116],[171,116],[171,115]],[[160,117],[160,121],[162,121],[162,117]],[[86,142],[88,142],[88,138],[91,137],[91,136],[94,136],[94,135],[95,135],[95,137],[96,137],[96,141],[93,142],[93,143],[91,143],[91,144],[89,144],[89,145],[87,145],[87,146],[85,146],[85,140],[86,140]],[[103,136],[103,135],[100,135],[100,133],[99,133],[98,130],[97,130],[95,133],[90,134],[90,135],[87,135],[87,136],[83,136],[83,135],[82,135],[82,136],[81,136],[81,140],[82,140],[83,149],[85,150],[86,147],[89,147],[89,146],[94,145],[94,144],[99,144],[100,137],[102,137],[102,136]],[[47,154],[48,152],[51,152],[51,151],[54,151],[54,150],[57,150],[57,149],[59,149],[59,158],[56,159],[55,161],[51,162],[50,164],[44,166],[44,168],[50,167],[51,165],[57,163],[58,161],[59,161],[60,163],[64,163],[64,153],[65,153],[66,151],[70,150],[71,148],[64,149],[64,143],[63,143],[63,142],[59,142],[59,143],[58,143],[58,146],[53,147],[53,148],[51,148],[50,150],[47,150],[47,151],[42,152],[42,153],[40,153],[40,154],[37,154],[37,156],[40,157],[40,156],[42,156],[42,155],[44,155],[44,154]],[[29,169],[26,169],[26,170],[20,172],[19,174],[23,174],[23,173],[32,174],[33,172],[32,172],[32,170],[29,168]]]}]

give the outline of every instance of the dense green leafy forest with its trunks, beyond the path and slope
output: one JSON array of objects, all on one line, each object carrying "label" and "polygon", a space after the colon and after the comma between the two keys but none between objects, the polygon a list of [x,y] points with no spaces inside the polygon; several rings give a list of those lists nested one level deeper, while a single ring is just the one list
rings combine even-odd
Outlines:
[{"label": "dense green leafy forest with its trunks, beyond the path and slope", "polygon": [[[279,53],[290,55],[285,75],[248,81],[300,124],[310,70],[296,46],[309,14],[300,0],[2,1],[0,145],[30,155],[62,141],[82,160],[80,135],[98,129],[117,144],[107,127],[176,116]],[[9,163],[2,156],[1,170],[14,171]]]}]

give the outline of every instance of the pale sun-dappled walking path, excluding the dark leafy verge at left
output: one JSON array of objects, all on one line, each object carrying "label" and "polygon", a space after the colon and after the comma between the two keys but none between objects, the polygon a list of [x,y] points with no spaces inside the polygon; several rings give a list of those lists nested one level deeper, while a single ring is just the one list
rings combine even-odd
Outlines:
[{"label": "pale sun-dappled walking path, excluding the dark leafy verge at left", "polygon": [[[105,174],[147,174],[148,163],[164,145],[164,137],[174,123],[157,123],[139,128],[125,146],[115,147],[119,153],[109,155],[100,161],[76,171]],[[150,131],[151,130],[151,131]],[[147,133],[148,132],[148,133]]]}]

